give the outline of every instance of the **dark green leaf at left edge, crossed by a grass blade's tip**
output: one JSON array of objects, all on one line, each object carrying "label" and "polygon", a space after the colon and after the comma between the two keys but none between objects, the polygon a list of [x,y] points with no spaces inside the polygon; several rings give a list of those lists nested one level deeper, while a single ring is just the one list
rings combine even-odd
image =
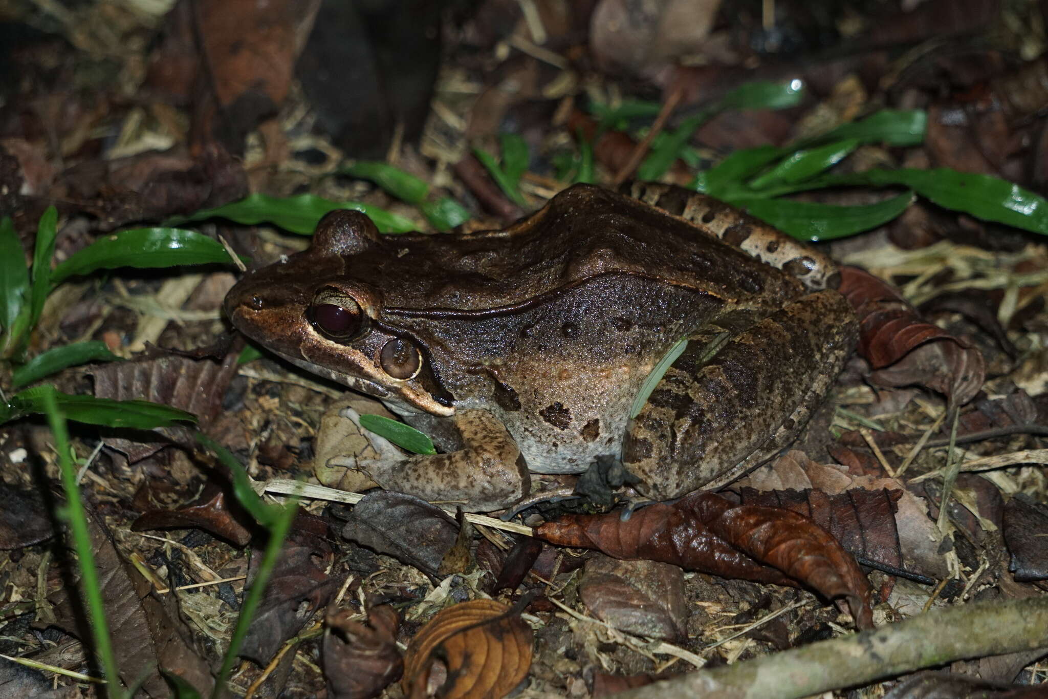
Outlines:
[{"label": "dark green leaf at left edge, crossed by a grass blade's tip", "polygon": [[45,412],[45,400],[51,394],[65,416],[77,422],[102,424],[108,428],[152,430],[182,421],[197,421],[193,413],[171,406],[161,406],[149,400],[112,400],[88,395],[70,395],[60,393],[53,386],[46,385],[35,386],[13,395],[2,413],[3,420],[0,421]]}]

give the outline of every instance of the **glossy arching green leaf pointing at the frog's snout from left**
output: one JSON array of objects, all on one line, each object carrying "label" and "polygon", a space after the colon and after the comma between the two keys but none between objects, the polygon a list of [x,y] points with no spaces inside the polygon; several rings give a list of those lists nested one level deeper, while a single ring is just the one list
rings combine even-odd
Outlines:
[{"label": "glossy arching green leaf pointing at the frog's snout from left", "polygon": [[214,238],[182,228],[132,228],[94,241],[51,272],[51,283],[117,267],[175,267],[228,264],[230,254]]}]

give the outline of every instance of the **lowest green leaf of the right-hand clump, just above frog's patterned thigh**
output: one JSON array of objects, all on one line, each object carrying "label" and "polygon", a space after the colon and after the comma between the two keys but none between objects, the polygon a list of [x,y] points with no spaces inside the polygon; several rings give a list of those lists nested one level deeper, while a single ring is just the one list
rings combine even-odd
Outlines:
[{"label": "lowest green leaf of the right-hand clump, just above frog's patterned thigh", "polygon": [[882,225],[913,203],[911,193],[861,206],[836,206],[790,199],[732,199],[757,218],[801,240],[831,240]]}]

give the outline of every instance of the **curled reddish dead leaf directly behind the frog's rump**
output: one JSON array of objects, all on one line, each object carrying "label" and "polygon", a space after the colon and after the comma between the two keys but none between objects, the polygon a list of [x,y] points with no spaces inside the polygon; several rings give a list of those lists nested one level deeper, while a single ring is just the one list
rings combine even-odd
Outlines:
[{"label": "curled reddish dead leaf directly behind the frog's rump", "polygon": [[955,405],[975,397],[986,378],[982,353],[967,341],[925,323],[889,284],[857,267],[842,267],[840,292],[859,318],[858,353],[880,386],[919,384]]}]

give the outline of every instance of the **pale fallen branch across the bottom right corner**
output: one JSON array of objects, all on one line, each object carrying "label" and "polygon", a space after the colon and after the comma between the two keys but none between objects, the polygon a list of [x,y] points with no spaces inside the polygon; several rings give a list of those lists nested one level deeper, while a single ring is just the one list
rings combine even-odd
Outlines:
[{"label": "pale fallen branch across the bottom right corner", "polygon": [[621,699],[791,699],[978,658],[1048,647],[1048,596],[951,607],[873,631],[700,670]]}]

